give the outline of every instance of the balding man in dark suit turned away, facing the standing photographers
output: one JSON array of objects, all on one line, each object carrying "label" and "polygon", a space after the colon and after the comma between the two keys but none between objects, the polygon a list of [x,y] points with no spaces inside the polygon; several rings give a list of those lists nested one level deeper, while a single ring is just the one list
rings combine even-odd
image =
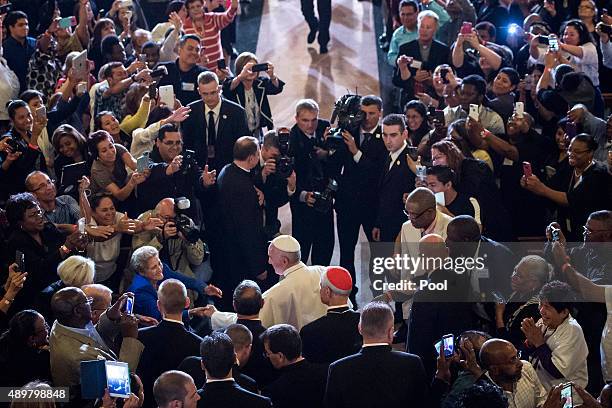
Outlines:
[{"label": "balding man in dark suit turned away, facing the standing photographers", "polygon": [[[234,161],[217,178],[217,203],[213,236],[217,251],[212,253],[213,280],[226,294],[243,279],[266,278],[267,239],[263,228],[263,193],[255,188],[251,171],[259,163],[259,142],[243,136],[234,146]],[[232,299],[221,304],[231,310]]]}]

